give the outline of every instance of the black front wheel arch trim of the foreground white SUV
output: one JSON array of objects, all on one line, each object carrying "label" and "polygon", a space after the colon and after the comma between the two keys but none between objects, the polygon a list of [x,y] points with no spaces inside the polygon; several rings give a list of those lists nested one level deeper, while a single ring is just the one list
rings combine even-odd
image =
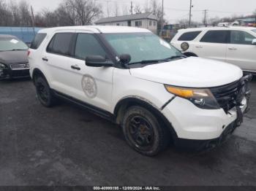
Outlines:
[{"label": "black front wheel arch trim of the foreground white SUV", "polygon": [[152,112],[152,114],[154,114],[157,117],[157,120],[159,120],[159,122],[162,125],[165,125],[165,127],[170,130],[172,138],[177,138],[177,133],[174,130],[173,126],[171,125],[171,122],[169,122],[167,118],[164,116],[164,114],[162,114],[162,112],[159,111],[157,106],[154,106],[154,104],[152,104],[150,101],[143,98],[139,98],[137,96],[123,98],[121,101],[118,101],[118,104],[116,104],[116,107],[114,109],[114,115],[116,117],[116,123],[118,125],[121,124],[121,120],[124,117],[125,111],[130,106],[142,106],[143,108],[148,109],[149,112]]}]

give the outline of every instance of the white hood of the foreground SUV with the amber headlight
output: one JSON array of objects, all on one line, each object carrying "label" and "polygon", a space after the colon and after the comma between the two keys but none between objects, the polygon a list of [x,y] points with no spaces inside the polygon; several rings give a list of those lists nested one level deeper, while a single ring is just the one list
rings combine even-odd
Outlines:
[{"label": "white hood of the foreground SUV with the amber headlight", "polygon": [[130,69],[130,72],[140,79],[180,87],[217,87],[243,76],[241,69],[230,63],[196,57]]}]

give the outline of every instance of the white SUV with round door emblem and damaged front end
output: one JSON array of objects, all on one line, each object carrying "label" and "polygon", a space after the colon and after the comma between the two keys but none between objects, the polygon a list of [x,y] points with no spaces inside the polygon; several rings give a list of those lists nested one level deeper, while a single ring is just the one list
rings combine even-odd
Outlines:
[{"label": "white SUV with round door emblem and damaged front end", "polygon": [[128,144],[156,155],[175,144],[219,144],[241,124],[249,76],[230,64],[186,58],[143,28],[39,31],[29,50],[42,105],[63,98],[116,122]]}]

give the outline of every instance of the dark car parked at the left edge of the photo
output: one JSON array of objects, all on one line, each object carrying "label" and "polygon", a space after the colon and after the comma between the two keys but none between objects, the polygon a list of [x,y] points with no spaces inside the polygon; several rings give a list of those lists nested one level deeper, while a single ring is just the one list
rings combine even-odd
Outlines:
[{"label": "dark car parked at the left edge of the photo", "polygon": [[29,77],[28,49],[16,36],[0,35],[0,79]]}]

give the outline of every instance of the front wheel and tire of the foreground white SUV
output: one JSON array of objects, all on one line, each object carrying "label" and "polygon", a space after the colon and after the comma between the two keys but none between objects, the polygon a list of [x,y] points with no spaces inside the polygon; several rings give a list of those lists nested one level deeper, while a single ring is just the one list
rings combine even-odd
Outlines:
[{"label": "front wheel and tire of the foreground white SUV", "polygon": [[170,141],[170,132],[157,117],[141,106],[131,106],[124,114],[121,127],[130,147],[142,155],[154,156]]}]

